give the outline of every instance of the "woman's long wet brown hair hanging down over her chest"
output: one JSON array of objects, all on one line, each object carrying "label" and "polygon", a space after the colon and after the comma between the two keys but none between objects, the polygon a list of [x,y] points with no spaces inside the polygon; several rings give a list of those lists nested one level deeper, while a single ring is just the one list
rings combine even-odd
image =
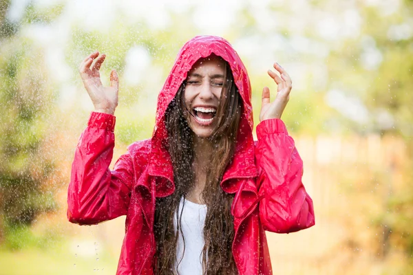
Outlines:
[{"label": "woman's long wet brown hair hanging down over her chest", "polygon": [[[215,115],[218,126],[209,141],[215,147],[211,162],[207,167],[207,179],[202,200],[207,205],[207,217],[204,224],[204,248],[202,263],[204,274],[237,274],[232,254],[234,238],[231,203],[233,195],[220,187],[222,175],[231,162],[235,151],[235,141],[242,113],[242,99],[233,80],[229,64],[225,62],[224,85],[220,104]],[[180,221],[182,210],[179,204],[182,197],[194,186],[193,171],[193,133],[187,124],[190,115],[184,103],[185,82],[182,83],[176,97],[169,104],[165,113],[165,126],[168,138],[165,141],[173,165],[175,192],[164,198],[156,199],[154,233],[156,254],[154,259],[155,274],[178,274],[178,265],[182,259],[176,259],[178,232],[182,234]],[[173,229],[173,217],[176,214],[176,233]],[[183,234],[182,234],[183,235]],[[177,267],[175,268],[175,264]]]}]

